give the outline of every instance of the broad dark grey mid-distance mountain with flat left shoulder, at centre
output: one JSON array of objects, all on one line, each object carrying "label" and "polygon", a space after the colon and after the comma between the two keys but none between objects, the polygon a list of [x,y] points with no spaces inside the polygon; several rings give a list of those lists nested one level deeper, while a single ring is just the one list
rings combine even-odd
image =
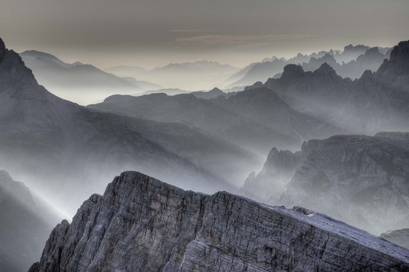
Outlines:
[{"label": "broad dark grey mid-distance mountain with flat left shoulder, at centre", "polygon": [[205,135],[262,156],[265,146],[296,148],[305,139],[340,131],[336,126],[327,126],[319,119],[294,111],[265,87],[241,91],[227,99],[210,100],[193,94],[113,95],[87,107],[157,121],[189,122]]}]

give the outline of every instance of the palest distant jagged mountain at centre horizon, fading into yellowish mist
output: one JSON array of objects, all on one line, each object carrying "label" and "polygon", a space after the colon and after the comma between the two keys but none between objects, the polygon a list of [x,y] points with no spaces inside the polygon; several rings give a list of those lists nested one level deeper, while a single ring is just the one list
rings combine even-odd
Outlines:
[{"label": "palest distant jagged mountain at centre horizon, fading into yellowish mist", "polygon": [[164,67],[141,71],[137,73],[137,78],[161,84],[165,88],[181,88],[188,91],[209,90],[239,70],[229,64],[203,60],[171,63]]}]

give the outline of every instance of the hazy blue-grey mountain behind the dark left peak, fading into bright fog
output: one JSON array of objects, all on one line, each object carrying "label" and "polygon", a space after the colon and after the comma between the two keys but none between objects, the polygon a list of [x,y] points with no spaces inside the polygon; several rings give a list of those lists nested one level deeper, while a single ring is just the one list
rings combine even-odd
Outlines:
[{"label": "hazy blue-grey mountain behind the dark left peak, fading into bright fog", "polygon": [[131,94],[162,88],[134,78],[121,78],[90,64],[66,64],[43,52],[25,51],[20,56],[39,84],[55,95],[79,104],[86,105],[116,93]]}]

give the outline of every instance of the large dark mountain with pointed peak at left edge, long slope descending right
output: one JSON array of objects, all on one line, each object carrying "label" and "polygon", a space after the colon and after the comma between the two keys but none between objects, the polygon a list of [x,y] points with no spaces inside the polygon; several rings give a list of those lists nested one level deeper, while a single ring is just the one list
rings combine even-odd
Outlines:
[{"label": "large dark mountain with pointed peak at left edge, long slope descending right", "polygon": [[67,212],[126,168],[213,192],[235,188],[243,166],[257,161],[187,122],[104,113],[63,100],[38,85],[1,40],[0,139],[0,165]]}]

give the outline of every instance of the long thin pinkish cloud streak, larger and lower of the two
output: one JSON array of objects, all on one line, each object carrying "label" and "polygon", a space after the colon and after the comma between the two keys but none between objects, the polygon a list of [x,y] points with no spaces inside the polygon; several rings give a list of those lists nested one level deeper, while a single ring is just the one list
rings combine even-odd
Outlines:
[{"label": "long thin pinkish cloud streak, larger and lower of the two", "polygon": [[200,35],[189,38],[178,38],[176,42],[180,43],[200,43],[200,44],[244,44],[247,42],[271,42],[288,39],[301,39],[310,37],[309,34],[294,35]]}]

